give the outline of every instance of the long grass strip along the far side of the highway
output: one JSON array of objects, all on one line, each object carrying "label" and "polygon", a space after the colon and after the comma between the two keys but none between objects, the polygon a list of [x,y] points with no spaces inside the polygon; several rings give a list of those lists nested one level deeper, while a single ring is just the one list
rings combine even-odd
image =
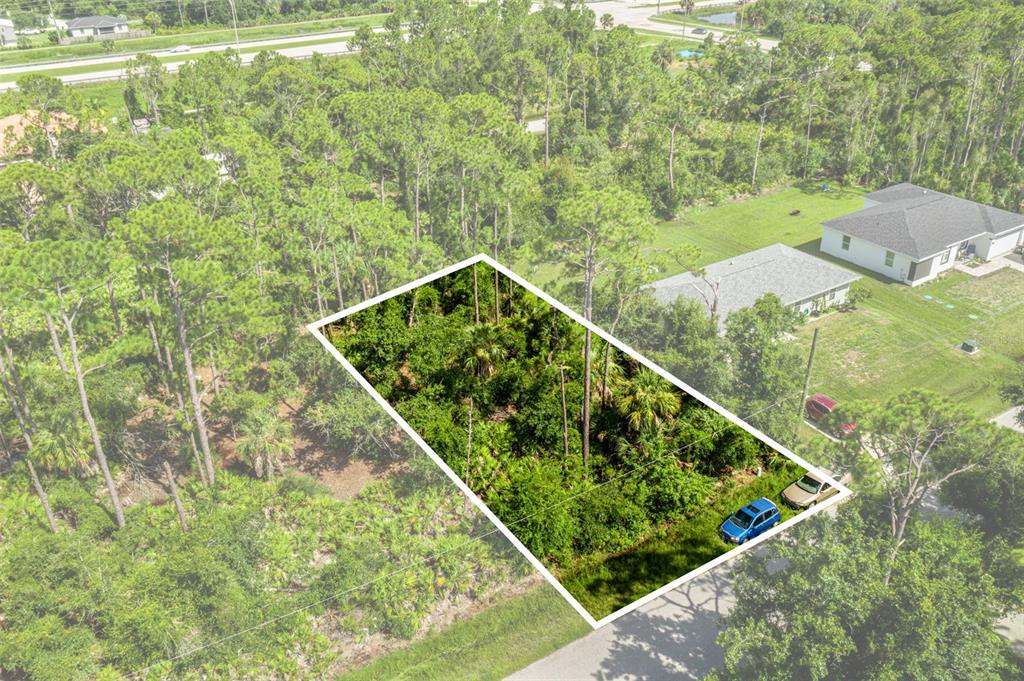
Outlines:
[{"label": "long grass strip along the far side of the highway", "polygon": [[[288,38],[339,29],[356,29],[360,26],[382,26],[387,14],[366,14],[361,16],[344,16],[340,18],[314,19],[290,24],[274,24],[269,26],[254,26],[239,29],[240,40],[262,40],[268,38]],[[45,38],[44,38],[45,40]],[[120,40],[114,43],[113,54],[122,52],[138,52],[140,50],[168,49],[177,45],[216,45],[234,42],[234,31],[230,28],[171,33],[145,38]],[[79,43],[77,45],[55,45],[27,50],[4,50],[0,52],[0,67],[12,67],[34,61],[52,59],[82,58],[88,56],[104,56],[111,54],[99,42]]]}]

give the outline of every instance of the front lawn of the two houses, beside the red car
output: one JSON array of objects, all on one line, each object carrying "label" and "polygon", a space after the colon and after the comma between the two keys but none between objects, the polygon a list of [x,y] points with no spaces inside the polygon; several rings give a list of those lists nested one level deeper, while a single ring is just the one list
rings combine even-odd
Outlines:
[{"label": "front lawn of the two houses, beside the red car", "polygon": [[[820,329],[812,389],[838,399],[885,399],[927,388],[985,419],[1009,408],[999,388],[1024,359],[1024,272],[954,271],[915,288],[867,275],[861,283],[872,297],[859,309],[800,330],[806,352],[814,327]],[[967,338],[981,351],[959,350]]]}]

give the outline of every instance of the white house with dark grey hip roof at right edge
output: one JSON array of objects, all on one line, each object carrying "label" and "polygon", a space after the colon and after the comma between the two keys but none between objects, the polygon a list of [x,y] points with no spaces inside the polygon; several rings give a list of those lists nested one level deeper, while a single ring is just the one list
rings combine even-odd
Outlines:
[{"label": "white house with dark grey hip roof at right edge", "polygon": [[908,182],[866,195],[863,210],[822,227],[823,253],[910,286],[1024,244],[1024,215]]}]

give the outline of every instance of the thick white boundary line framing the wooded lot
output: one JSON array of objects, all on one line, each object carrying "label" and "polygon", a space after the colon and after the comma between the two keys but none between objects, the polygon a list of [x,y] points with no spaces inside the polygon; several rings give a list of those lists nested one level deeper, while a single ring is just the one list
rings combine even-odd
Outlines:
[{"label": "thick white boundary line framing the wooded lot", "polygon": [[[815,475],[819,476],[821,479],[828,480],[829,483],[834,487],[836,487],[837,490],[840,491],[840,494],[834,496],[831,499],[829,499],[828,501],[826,501],[826,502],[824,502],[822,504],[818,504],[814,508],[810,508],[810,509],[807,509],[805,511],[802,511],[797,516],[795,516],[793,518],[790,518],[785,522],[783,522],[783,523],[781,523],[781,524],[775,526],[775,527],[773,527],[772,529],[769,529],[768,531],[766,531],[763,535],[759,536],[757,539],[754,539],[754,540],[748,542],[746,544],[743,544],[742,546],[737,546],[736,548],[734,548],[734,549],[732,549],[730,551],[727,551],[726,553],[722,554],[721,556],[718,556],[717,558],[715,558],[713,560],[710,560],[707,563],[700,565],[696,569],[690,570],[686,574],[683,574],[682,577],[680,577],[680,578],[678,578],[676,580],[673,580],[672,582],[670,582],[669,584],[665,585],[664,587],[660,587],[659,589],[656,589],[656,590],[650,592],[646,596],[643,596],[643,597],[641,597],[641,598],[633,601],[629,605],[615,610],[611,614],[605,615],[605,616],[601,618],[600,620],[595,620],[594,616],[590,612],[588,612],[587,609],[580,603],[580,601],[578,601],[572,596],[572,594],[570,594],[565,589],[565,587],[563,587],[561,585],[561,583],[559,583],[558,580],[555,579],[555,576],[552,574],[551,571],[547,567],[544,566],[544,563],[542,563],[540,561],[540,559],[538,559],[538,557],[535,556],[532,554],[532,552],[530,552],[530,550],[527,549],[522,544],[522,542],[520,542],[515,537],[514,534],[512,534],[512,531],[505,525],[505,523],[502,522],[502,520],[499,519],[498,516],[495,515],[495,513],[489,508],[487,508],[486,504],[484,504],[483,501],[479,497],[477,497],[476,494],[472,490],[469,488],[469,486],[466,485],[466,483],[462,480],[462,478],[460,478],[458,475],[456,475],[455,471],[453,471],[452,468],[449,467],[449,465],[446,463],[444,463],[444,460],[441,459],[439,456],[437,456],[437,453],[434,452],[433,449],[429,444],[427,444],[426,441],[424,441],[424,439],[420,436],[420,434],[418,432],[416,432],[416,430],[414,430],[412,426],[409,425],[409,423],[406,421],[406,419],[403,419],[401,417],[401,415],[398,414],[398,412],[394,409],[394,407],[392,407],[386,399],[384,399],[384,397],[381,396],[381,394],[379,392],[377,392],[377,390],[374,388],[374,386],[371,385],[370,382],[366,378],[364,378],[364,376],[355,369],[355,367],[353,367],[351,365],[351,363],[348,361],[348,359],[346,359],[344,356],[342,356],[342,354],[338,350],[338,348],[336,348],[328,340],[328,338],[324,335],[324,333],[321,331],[321,329],[323,327],[325,327],[325,326],[327,326],[327,325],[329,325],[329,324],[331,324],[333,322],[337,322],[339,320],[342,320],[342,318],[344,318],[346,316],[354,314],[355,312],[358,312],[358,311],[361,311],[364,309],[367,309],[368,307],[372,307],[372,306],[374,306],[374,305],[376,305],[376,304],[378,304],[380,302],[383,302],[383,301],[388,300],[390,298],[394,298],[395,296],[399,296],[399,295],[401,295],[403,293],[408,293],[409,291],[412,291],[413,289],[419,288],[419,287],[423,286],[424,284],[429,284],[429,283],[434,282],[434,281],[436,281],[438,279],[441,279],[443,276],[447,276],[449,274],[452,274],[452,273],[457,272],[457,271],[459,271],[461,269],[464,269],[464,268],[466,268],[466,267],[468,267],[470,265],[474,265],[474,264],[477,264],[477,263],[480,263],[480,262],[482,262],[482,263],[484,263],[486,265],[489,265],[490,267],[494,267],[499,272],[501,272],[505,276],[509,278],[510,280],[512,280],[513,282],[515,282],[520,287],[526,289],[527,291],[529,291],[535,296],[541,298],[546,303],[548,303],[549,305],[553,306],[555,309],[557,309],[558,311],[562,312],[563,314],[565,314],[566,316],[568,316],[570,320],[572,320],[577,324],[580,324],[584,328],[589,329],[591,332],[593,332],[594,334],[596,334],[599,338],[603,339],[605,342],[607,342],[610,345],[618,348],[618,350],[621,350],[622,352],[625,352],[626,354],[630,355],[636,361],[638,361],[639,364],[643,365],[647,369],[653,371],[655,374],[657,374],[662,378],[666,379],[667,381],[669,381],[670,383],[672,383],[673,385],[675,385],[680,390],[683,390],[687,394],[691,395],[692,397],[694,397],[695,399],[697,399],[698,401],[700,401],[701,403],[703,403],[706,407],[709,407],[709,408],[713,409],[714,411],[718,412],[719,414],[721,414],[722,416],[724,416],[726,419],[728,419],[730,422],[732,422],[733,424],[739,426],[740,428],[742,428],[743,430],[745,430],[748,433],[750,433],[754,437],[756,437],[759,440],[761,440],[762,442],[765,442],[766,444],[768,444],[769,446],[771,446],[772,449],[774,449],[779,454],[781,454],[784,457],[786,457],[787,459],[790,459],[790,460],[792,460],[792,461],[800,464],[805,469],[807,469],[807,470],[813,472]],[[362,386],[362,388],[366,389],[367,392],[370,393],[370,395],[374,398],[374,400],[377,401],[377,403],[380,405],[384,409],[384,411],[387,412],[388,415],[390,415],[391,418],[395,420],[395,422],[401,427],[401,429],[404,430],[406,433],[410,437],[413,438],[413,441],[416,442],[420,446],[420,449],[423,450],[427,454],[427,456],[429,456],[430,459],[435,464],[437,464],[437,466],[440,467],[440,469],[442,471],[444,471],[445,475],[447,475],[449,478],[451,478],[451,480],[453,482],[455,482],[455,484],[459,487],[459,490],[462,491],[462,493],[464,495],[466,495],[466,497],[470,500],[470,502],[472,502],[472,504],[474,506],[476,506],[476,508],[484,516],[486,516],[486,518],[488,520],[490,520],[490,522],[493,522],[495,524],[495,526],[498,528],[498,530],[501,531],[502,535],[504,535],[505,538],[508,539],[508,541],[511,542],[512,545],[515,546],[516,549],[518,549],[520,553],[522,553],[522,555],[526,558],[526,560],[528,560],[530,562],[530,564],[534,565],[534,567],[536,567],[541,572],[541,574],[544,576],[544,578],[551,584],[551,586],[553,586],[555,588],[555,590],[558,591],[558,593],[561,594],[562,597],[565,598],[566,601],[568,601],[569,605],[571,605],[575,609],[575,611],[579,612],[580,615],[584,620],[586,620],[590,624],[590,626],[593,627],[594,629],[598,629],[599,627],[603,627],[604,625],[609,624],[609,623],[613,622],[614,620],[617,620],[618,618],[623,616],[624,614],[632,612],[633,610],[637,609],[641,605],[644,605],[645,603],[649,603],[650,601],[658,598],[663,594],[666,594],[669,591],[672,591],[673,589],[679,587],[680,585],[682,585],[682,584],[684,584],[686,582],[689,582],[693,578],[698,577],[700,574],[703,574],[705,572],[707,572],[708,570],[712,569],[713,567],[716,567],[717,565],[720,565],[720,564],[722,564],[723,562],[725,562],[727,560],[731,560],[732,558],[735,558],[740,553],[743,553],[744,551],[749,551],[750,549],[754,548],[755,546],[757,546],[761,542],[764,542],[764,541],[770,539],[771,537],[774,537],[775,535],[778,535],[779,533],[784,531],[786,528],[792,527],[796,523],[800,522],[801,520],[805,520],[805,519],[809,518],[810,516],[814,515],[815,513],[823,511],[824,509],[826,509],[826,508],[828,508],[828,507],[830,507],[830,506],[839,503],[840,501],[846,499],[847,497],[849,497],[852,494],[852,492],[846,485],[840,483],[837,480],[831,479],[831,476],[825,475],[824,471],[822,471],[817,466],[813,466],[810,463],[808,463],[807,461],[804,461],[804,459],[802,459],[801,457],[798,457],[796,454],[794,454],[793,452],[791,452],[786,448],[782,446],[781,444],[779,444],[778,442],[776,442],[771,437],[768,437],[766,434],[762,433],[760,430],[758,430],[758,429],[754,428],[753,426],[751,426],[750,424],[741,421],[734,414],[732,414],[731,412],[729,412],[728,410],[726,410],[722,406],[718,405],[717,402],[715,402],[711,398],[705,396],[700,392],[694,390],[693,388],[691,388],[690,386],[688,386],[686,383],[684,383],[683,381],[681,381],[680,379],[678,379],[676,376],[670,374],[669,372],[667,372],[666,370],[662,369],[660,367],[658,367],[654,363],[650,361],[649,359],[647,359],[646,357],[644,357],[642,354],[640,354],[639,352],[637,352],[636,350],[634,350],[633,348],[631,348],[629,345],[626,345],[622,341],[618,341],[617,339],[611,337],[609,334],[607,334],[604,331],[602,331],[600,328],[598,328],[593,323],[586,321],[585,318],[583,318],[583,316],[581,316],[580,314],[578,314],[575,311],[569,309],[568,307],[566,307],[565,305],[563,305],[562,303],[560,303],[558,300],[552,298],[551,296],[549,296],[548,294],[544,293],[543,291],[541,291],[540,289],[538,289],[536,286],[534,286],[532,284],[530,284],[529,282],[525,281],[524,279],[522,279],[521,276],[519,276],[518,274],[516,274],[515,272],[513,272],[511,269],[508,269],[507,267],[505,267],[501,263],[495,261],[493,258],[490,258],[489,256],[487,256],[485,254],[482,254],[482,253],[479,254],[479,255],[475,255],[473,257],[467,258],[467,259],[465,259],[465,260],[463,260],[461,262],[457,262],[454,265],[451,265],[449,267],[440,269],[440,270],[438,270],[438,271],[436,271],[436,272],[434,272],[432,274],[427,274],[426,276],[422,276],[422,278],[420,278],[420,279],[418,279],[418,280],[416,280],[414,282],[410,282],[409,284],[406,284],[404,286],[400,286],[400,287],[398,287],[396,289],[392,289],[391,291],[388,291],[386,293],[382,293],[379,296],[375,296],[375,297],[373,297],[373,298],[371,298],[369,300],[365,300],[365,301],[362,301],[361,303],[359,303],[357,305],[352,305],[351,307],[347,307],[347,308],[343,309],[340,312],[336,312],[335,314],[331,314],[331,315],[326,316],[326,317],[324,317],[322,320],[313,322],[312,324],[307,325],[306,329],[309,331],[309,333],[311,333],[316,338],[316,340],[318,340],[321,342],[322,345],[324,345],[325,348],[327,348],[328,352],[330,352],[331,355],[334,356],[335,359],[337,359],[339,363],[341,363],[342,367],[344,367],[345,370],[349,374],[352,375],[352,378],[354,378],[355,381],[360,386]]]}]

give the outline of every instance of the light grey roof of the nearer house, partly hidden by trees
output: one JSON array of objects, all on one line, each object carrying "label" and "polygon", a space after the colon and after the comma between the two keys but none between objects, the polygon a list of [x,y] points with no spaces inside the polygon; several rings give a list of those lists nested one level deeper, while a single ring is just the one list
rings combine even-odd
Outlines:
[{"label": "light grey roof of the nearer house, partly hidden by trees", "polygon": [[766,293],[774,293],[783,304],[793,305],[858,279],[858,274],[813,255],[772,244],[710,264],[702,276],[684,272],[654,282],[651,288],[663,303],[685,297],[714,304],[717,298],[718,316],[724,322],[730,312],[750,307]]}]

